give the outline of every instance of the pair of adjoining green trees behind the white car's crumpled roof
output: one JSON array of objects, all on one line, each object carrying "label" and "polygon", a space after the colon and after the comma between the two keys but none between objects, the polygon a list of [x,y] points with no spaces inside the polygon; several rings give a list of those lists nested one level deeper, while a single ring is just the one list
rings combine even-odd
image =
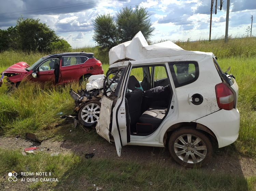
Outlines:
[{"label": "pair of adjoining green trees behind the white car's crumpled roof", "polygon": [[116,14],[116,21],[110,14],[98,15],[94,21],[93,39],[106,50],[131,40],[139,31],[149,40],[155,30],[149,16],[145,8],[138,6],[134,10],[124,7]]}]

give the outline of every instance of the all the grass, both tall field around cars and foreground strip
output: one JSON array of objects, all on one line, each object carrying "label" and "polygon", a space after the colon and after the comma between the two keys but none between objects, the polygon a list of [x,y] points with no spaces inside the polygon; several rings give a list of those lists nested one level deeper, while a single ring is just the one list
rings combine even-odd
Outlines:
[{"label": "all the grass, both tall field around cars and foreground strip", "polygon": [[[238,109],[241,114],[240,132],[238,140],[231,145],[234,152],[239,152],[256,159],[256,38],[231,39],[228,44],[223,40],[176,42],[185,50],[199,50],[213,52],[218,57],[218,63],[223,70],[229,66],[239,86]],[[108,70],[108,53],[102,53],[97,47],[87,47],[73,51],[94,52],[95,57],[103,63],[104,73]],[[53,52],[54,53],[54,52]],[[0,53],[0,71],[14,63],[24,61],[33,64],[44,53],[23,53],[6,51]],[[38,84],[21,83],[17,90],[6,92],[3,85],[0,88],[0,135],[22,137],[26,132],[35,133],[39,138],[47,136],[56,140],[63,140],[68,128],[73,124],[62,124],[63,120],[57,113],[68,115],[72,112],[74,102],[69,95],[70,87],[74,90],[80,87],[71,83],[65,87],[45,86]],[[83,134],[83,130],[77,131],[70,140],[91,142],[102,139],[90,132]],[[253,190],[256,187],[256,178],[244,178],[231,175],[217,176],[202,174],[200,170],[186,172],[173,168],[165,168],[161,163],[143,164],[136,162],[126,163],[107,159],[85,160],[74,154],[59,156],[55,159],[48,155],[28,156],[25,161],[20,159],[18,151],[5,152],[0,150],[0,175],[4,175],[5,169],[24,171],[27,164],[33,171],[53,170],[54,175],[61,177],[56,190],[64,187],[66,190],[74,190],[80,181],[71,182],[71,177],[84,177],[89,181],[88,190],[94,184],[93,178],[103,177],[97,180],[98,185],[107,185],[106,190]],[[10,161],[13,161],[10,163]],[[40,164],[40,162],[42,164]],[[32,165],[33,163],[33,165]],[[113,166],[117,166],[114,170]],[[40,167],[40,169],[39,169]],[[68,170],[67,170],[68,169]],[[120,174],[116,173],[121,172]],[[79,172],[75,174],[75,172]],[[194,177],[194,179],[191,179]],[[149,185],[148,182],[155,183]],[[37,189],[42,185],[32,184],[30,188]],[[112,189],[113,188],[113,189]],[[125,189],[124,189],[125,188]],[[143,189],[142,189],[143,188]],[[245,189],[246,188],[246,189]]]}]

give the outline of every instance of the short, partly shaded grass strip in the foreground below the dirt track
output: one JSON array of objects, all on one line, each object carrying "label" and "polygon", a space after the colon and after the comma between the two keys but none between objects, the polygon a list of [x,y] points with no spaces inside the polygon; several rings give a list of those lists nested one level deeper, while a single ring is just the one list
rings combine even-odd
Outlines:
[{"label": "short, partly shaded grass strip in the foreground below the dirt track", "polygon": [[[0,176],[11,171],[51,172],[54,183],[32,183],[28,189],[46,190],[253,190],[256,177],[202,173],[200,169],[176,169],[161,162],[125,162],[109,159],[85,159],[74,154],[51,157],[37,152],[23,156],[19,151],[0,149]],[[48,176],[49,177],[49,176]],[[26,177],[27,178],[27,177]],[[30,178],[35,178],[31,176]],[[41,177],[38,177],[41,178]],[[7,179],[2,179],[8,184]],[[21,178],[18,178],[20,181]],[[10,185],[16,183],[9,183]],[[136,189],[137,188],[137,189]]]}]

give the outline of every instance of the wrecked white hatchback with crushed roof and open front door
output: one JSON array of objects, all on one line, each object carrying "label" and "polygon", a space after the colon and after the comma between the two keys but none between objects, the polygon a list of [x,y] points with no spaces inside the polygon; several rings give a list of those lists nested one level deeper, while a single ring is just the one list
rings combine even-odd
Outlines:
[{"label": "wrecked white hatchback with crushed roof and open front door", "polygon": [[186,51],[171,41],[148,45],[139,32],[113,47],[103,83],[97,133],[125,145],[169,148],[187,167],[209,162],[213,143],[238,138],[238,85],[213,53]]}]

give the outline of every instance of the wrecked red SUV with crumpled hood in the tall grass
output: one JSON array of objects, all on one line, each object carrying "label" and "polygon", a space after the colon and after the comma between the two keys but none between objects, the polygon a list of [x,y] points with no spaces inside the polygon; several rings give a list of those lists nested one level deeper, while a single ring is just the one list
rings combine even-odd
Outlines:
[{"label": "wrecked red SUV with crumpled hood in the tall grass", "polygon": [[19,62],[3,72],[7,76],[7,82],[14,87],[24,78],[32,82],[51,82],[56,85],[71,81],[82,82],[91,75],[103,74],[100,60],[93,55],[86,52],[46,55],[30,67],[25,62]]}]

